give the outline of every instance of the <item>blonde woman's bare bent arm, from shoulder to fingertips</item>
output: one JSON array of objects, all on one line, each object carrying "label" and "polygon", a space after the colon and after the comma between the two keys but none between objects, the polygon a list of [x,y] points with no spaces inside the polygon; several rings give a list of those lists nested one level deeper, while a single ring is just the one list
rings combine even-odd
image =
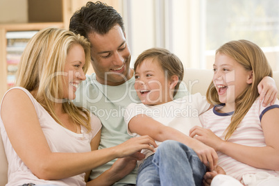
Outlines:
[{"label": "blonde woman's bare bent arm, from shoulder to fingertips", "polygon": [[22,90],[10,90],[3,99],[1,118],[10,143],[19,158],[41,179],[62,179],[90,171],[115,158],[153,148],[148,136],[131,138],[123,144],[87,153],[52,153],[42,132],[35,108]]}]

